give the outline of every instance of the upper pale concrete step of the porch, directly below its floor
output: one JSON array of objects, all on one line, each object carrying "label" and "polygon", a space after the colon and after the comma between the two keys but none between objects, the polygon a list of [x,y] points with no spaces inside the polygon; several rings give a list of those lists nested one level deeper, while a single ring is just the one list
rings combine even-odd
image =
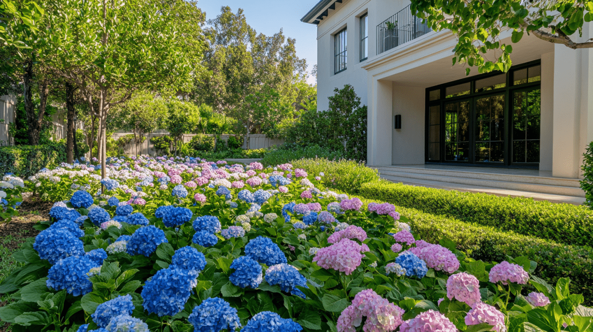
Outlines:
[{"label": "upper pale concrete step of the porch, directly below its floor", "polygon": [[[585,192],[581,188],[575,188],[573,186],[562,186],[562,185],[544,185],[540,183],[523,182],[528,181],[530,178],[515,178],[514,181],[503,180],[508,177],[500,177],[501,179],[480,179],[470,175],[468,173],[461,173],[455,176],[454,173],[447,173],[444,175],[434,175],[432,173],[412,173],[403,172],[401,170],[379,170],[381,175],[397,176],[398,178],[412,178],[419,180],[429,180],[444,183],[456,183],[458,185],[471,185],[471,186],[483,186],[486,188],[497,188],[497,189],[509,189],[516,191],[525,192],[539,192],[542,194],[553,194],[553,195],[565,195],[565,196],[577,196],[585,197]],[[407,169],[406,169],[407,170]],[[533,177],[532,177],[533,178]],[[562,181],[554,183],[565,183]]]}]

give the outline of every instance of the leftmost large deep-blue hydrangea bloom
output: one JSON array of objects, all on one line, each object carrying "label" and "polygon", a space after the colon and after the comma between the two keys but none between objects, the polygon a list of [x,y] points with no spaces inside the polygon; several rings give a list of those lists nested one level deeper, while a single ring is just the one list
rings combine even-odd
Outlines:
[{"label": "leftmost large deep-blue hydrangea bloom", "polygon": [[40,259],[55,264],[69,256],[82,256],[84,243],[65,228],[47,228],[35,237],[33,249]]}]

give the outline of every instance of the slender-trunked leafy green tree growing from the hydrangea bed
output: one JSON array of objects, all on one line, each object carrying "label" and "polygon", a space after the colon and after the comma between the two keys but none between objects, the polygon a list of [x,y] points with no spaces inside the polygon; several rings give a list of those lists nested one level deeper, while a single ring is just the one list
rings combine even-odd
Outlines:
[{"label": "slender-trunked leafy green tree growing from the hydrangea bed", "polygon": [[183,90],[188,85],[197,69],[192,67],[194,53],[184,51],[189,37],[180,32],[176,14],[180,7],[201,11],[181,0],[48,0],[44,5],[51,13],[44,61],[78,87],[98,117],[104,177],[107,113],[138,89]]}]

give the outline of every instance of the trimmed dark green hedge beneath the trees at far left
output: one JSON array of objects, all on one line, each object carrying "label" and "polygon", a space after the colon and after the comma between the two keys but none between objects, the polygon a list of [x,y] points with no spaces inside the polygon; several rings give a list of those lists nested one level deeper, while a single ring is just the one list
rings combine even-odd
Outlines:
[{"label": "trimmed dark green hedge beneath the trees at far left", "polygon": [[27,178],[43,167],[55,167],[65,162],[65,144],[0,147],[0,174],[15,173],[22,178]]}]

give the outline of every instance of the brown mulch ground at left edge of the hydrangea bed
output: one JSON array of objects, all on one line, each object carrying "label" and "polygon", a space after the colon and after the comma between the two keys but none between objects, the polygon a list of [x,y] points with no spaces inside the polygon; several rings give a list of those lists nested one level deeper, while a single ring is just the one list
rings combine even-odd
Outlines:
[{"label": "brown mulch ground at left edge of the hydrangea bed", "polygon": [[[12,218],[9,223],[0,220],[0,239],[8,236],[15,238],[14,241],[0,241],[0,246],[9,250],[17,249],[28,237],[34,237],[39,231],[33,228],[37,221],[49,220],[51,203],[40,201],[38,198],[26,198],[18,209],[19,216]],[[0,262],[2,257],[0,257]],[[7,305],[9,301],[0,301],[0,307]],[[0,326],[0,332],[5,332],[9,324]]]}]

